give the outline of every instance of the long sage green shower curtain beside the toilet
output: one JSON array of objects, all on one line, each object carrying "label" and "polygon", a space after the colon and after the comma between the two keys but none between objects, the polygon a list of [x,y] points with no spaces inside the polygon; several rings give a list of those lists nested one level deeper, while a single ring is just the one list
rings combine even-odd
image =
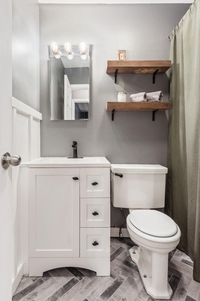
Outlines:
[{"label": "long sage green shower curtain beside the toilet", "polygon": [[166,213],[181,229],[178,249],[200,281],[200,0],[169,36],[170,101]]}]

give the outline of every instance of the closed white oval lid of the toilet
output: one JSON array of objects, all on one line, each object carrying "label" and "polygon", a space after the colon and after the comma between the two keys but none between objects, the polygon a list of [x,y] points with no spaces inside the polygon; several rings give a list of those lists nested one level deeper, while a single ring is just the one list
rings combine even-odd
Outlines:
[{"label": "closed white oval lid of the toilet", "polygon": [[168,237],[177,233],[173,219],[157,210],[134,210],[129,219],[134,227],[149,235]]}]

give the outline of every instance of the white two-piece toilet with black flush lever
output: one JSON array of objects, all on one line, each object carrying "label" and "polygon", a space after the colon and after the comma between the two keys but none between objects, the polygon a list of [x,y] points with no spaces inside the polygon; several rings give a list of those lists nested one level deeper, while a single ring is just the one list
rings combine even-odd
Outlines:
[{"label": "white two-piece toilet with black flush lever", "polygon": [[130,249],[144,287],[155,299],[170,299],[168,253],[179,243],[181,231],[166,214],[153,208],[165,205],[165,178],[161,165],[111,164],[114,207],[129,208],[127,229],[138,246]]}]

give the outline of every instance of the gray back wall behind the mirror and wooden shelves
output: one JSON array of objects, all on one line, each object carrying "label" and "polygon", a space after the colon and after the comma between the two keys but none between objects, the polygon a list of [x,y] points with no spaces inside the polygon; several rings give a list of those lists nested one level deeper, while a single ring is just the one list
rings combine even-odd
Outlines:
[{"label": "gray back wall behind the mirror and wooden shelves", "polygon": [[[189,4],[73,5],[40,4],[41,156],[72,155],[78,141],[79,156],[105,156],[111,163],[167,164],[167,112],[105,112],[117,93],[163,91],[169,100],[168,73],[157,75],[106,74],[107,60],[126,50],[127,60],[168,60],[168,35]],[[52,41],[90,46],[90,120],[50,121],[49,52]],[[120,209],[111,208],[111,224],[121,224]],[[126,212],[127,213],[127,212]]]}]

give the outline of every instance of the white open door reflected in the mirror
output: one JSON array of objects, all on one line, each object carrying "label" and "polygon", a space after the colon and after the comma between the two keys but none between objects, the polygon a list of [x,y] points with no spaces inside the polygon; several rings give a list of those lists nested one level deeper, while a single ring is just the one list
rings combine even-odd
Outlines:
[{"label": "white open door reflected in the mirror", "polygon": [[68,76],[64,75],[64,119],[71,120],[72,113],[72,88],[68,80]]}]

